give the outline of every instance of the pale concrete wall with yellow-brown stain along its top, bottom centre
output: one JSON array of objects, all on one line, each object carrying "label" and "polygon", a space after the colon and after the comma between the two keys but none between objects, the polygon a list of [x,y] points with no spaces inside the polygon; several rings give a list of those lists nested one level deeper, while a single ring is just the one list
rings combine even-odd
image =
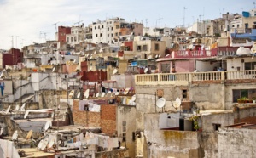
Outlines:
[{"label": "pale concrete wall with yellow-brown stain along its top, bottom centre", "polygon": [[145,114],[148,157],[200,157],[199,133],[159,130],[159,114]]}]

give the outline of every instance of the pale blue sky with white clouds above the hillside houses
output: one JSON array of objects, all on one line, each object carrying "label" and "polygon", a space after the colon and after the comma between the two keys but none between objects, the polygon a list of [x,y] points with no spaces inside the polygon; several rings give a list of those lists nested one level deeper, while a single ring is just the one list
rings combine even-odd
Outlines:
[{"label": "pale blue sky with white clouds above the hillside houses", "polygon": [[0,0],[0,49],[55,40],[56,27],[124,18],[150,27],[192,25],[255,8],[253,0]]}]

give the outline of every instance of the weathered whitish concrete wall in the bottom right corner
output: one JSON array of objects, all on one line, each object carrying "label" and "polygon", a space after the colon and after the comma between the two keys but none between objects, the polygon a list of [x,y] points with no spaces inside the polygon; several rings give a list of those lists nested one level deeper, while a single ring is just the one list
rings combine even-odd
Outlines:
[{"label": "weathered whitish concrete wall in the bottom right corner", "polygon": [[221,127],[218,133],[218,157],[256,157],[255,129]]}]

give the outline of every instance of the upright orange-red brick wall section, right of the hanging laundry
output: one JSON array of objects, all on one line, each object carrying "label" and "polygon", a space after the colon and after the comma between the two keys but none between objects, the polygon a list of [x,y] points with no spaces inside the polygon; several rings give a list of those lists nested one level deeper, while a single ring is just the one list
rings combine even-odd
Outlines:
[{"label": "upright orange-red brick wall section, right of the hanging laundry", "polygon": [[116,133],[116,105],[101,105],[101,127],[102,133],[112,135]]}]

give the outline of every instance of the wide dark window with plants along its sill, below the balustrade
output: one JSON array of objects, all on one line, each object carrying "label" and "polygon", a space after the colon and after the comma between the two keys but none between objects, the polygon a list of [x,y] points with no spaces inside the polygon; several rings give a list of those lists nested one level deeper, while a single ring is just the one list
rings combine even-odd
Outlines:
[{"label": "wide dark window with plants along its sill, below the balustrade", "polygon": [[256,89],[233,89],[233,102],[236,103],[240,98],[253,99],[256,97]]}]

